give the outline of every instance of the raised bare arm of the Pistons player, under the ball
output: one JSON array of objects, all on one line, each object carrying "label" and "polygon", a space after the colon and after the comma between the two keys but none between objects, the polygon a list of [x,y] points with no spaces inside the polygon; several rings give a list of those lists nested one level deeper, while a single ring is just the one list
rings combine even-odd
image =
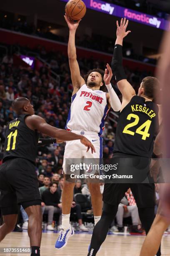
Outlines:
[{"label": "raised bare arm of the Pistons player, under the ball", "polygon": [[80,20],[78,20],[77,23],[75,23],[72,20],[70,20],[66,14],[64,18],[70,29],[69,40],[68,40],[68,59],[69,59],[69,65],[70,65],[72,85],[74,88],[73,94],[75,94],[77,90],[79,90],[80,87],[83,84],[85,84],[85,80],[80,75],[80,68],[77,62],[76,48],[75,48],[75,32],[80,23]]}]

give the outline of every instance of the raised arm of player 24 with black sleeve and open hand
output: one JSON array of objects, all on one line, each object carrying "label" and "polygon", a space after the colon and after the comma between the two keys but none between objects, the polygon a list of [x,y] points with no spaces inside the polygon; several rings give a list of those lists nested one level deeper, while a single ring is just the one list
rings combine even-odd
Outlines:
[{"label": "raised arm of player 24 with black sleeve and open hand", "polygon": [[127,81],[125,71],[122,66],[122,44],[123,38],[128,35],[131,31],[126,31],[128,26],[128,20],[126,18],[121,19],[120,26],[117,21],[117,32],[116,32],[116,42],[115,49],[112,57],[112,72],[115,75],[117,86],[122,93],[122,104],[125,101],[130,101],[133,95],[135,94],[135,90],[131,86],[131,84]]}]

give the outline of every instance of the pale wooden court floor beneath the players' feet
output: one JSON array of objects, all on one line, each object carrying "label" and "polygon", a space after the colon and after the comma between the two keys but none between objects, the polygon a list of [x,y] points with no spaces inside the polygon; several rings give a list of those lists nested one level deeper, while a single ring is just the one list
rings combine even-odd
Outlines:
[{"label": "pale wooden court floor beneath the players' feet", "polygon": [[[65,248],[55,249],[57,233],[42,233],[41,256],[87,256],[87,248],[90,243],[91,235],[87,233],[75,234],[72,236]],[[107,236],[102,248],[97,256],[139,256],[140,248],[145,236]],[[27,232],[10,233],[0,243],[0,247],[29,247],[29,237]],[[28,253],[0,254],[7,256],[29,256]],[[162,256],[170,256],[170,236],[164,236],[162,241]]]}]

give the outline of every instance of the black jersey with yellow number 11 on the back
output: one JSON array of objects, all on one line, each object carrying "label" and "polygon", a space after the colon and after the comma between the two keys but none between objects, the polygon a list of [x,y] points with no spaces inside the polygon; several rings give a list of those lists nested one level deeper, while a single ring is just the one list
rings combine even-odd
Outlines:
[{"label": "black jersey with yellow number 11 on the back", "polygon": [[11,121],[5,131],[3,162],[12,158],[24,158],[35,164],[39,133],[25,124],[26,114]]}]

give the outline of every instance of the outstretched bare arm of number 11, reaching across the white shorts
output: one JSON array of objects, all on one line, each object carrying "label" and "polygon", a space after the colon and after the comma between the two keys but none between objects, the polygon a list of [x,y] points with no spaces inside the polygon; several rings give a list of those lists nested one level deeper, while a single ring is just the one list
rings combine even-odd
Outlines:
[{"label": "outstretched bare arm of number 11, reaching across the white shorts", "polygon": [[95,152],[95,148],[92,143],[84,136],[55,128],[47,124],[46,121],[38,115],[29,116],[26,118],[25,123],[30,129],[37,130],[40,133],[44,133],[50,137],[60,139],[61,141],[80,140],[83,145],[87,146],[87,151],[89,148],[91,148],[92,152]]}]

